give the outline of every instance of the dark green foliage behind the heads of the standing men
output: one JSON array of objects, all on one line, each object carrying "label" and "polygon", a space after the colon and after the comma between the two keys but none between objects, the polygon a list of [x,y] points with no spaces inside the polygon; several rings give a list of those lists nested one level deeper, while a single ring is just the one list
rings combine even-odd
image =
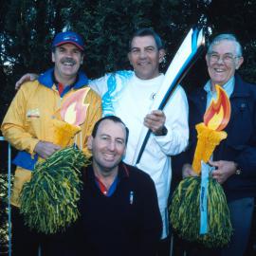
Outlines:
[{"label": "dark green foliage behind the heads of the standing men", "polygon": [[[50,42],[60,30],[73,29],[82,33],[86,42],[82,68],[90,78],[96,78],[105,72],[131,68],[127,60],[128,42],[138,27],[153,27],[162,36],[169,63],[190,27],[198,22],[204,27],[210,26],[213,34],[229,31],[238,35],[245,46],[247,60],[242,74],[249,81],[256,81],[253,68],[255,0],[2,2],[0,62],[11,64],[3,71],[6,86],[11,88],[25,72],[42,72],[51,65]],[[196,69],[197,84],[201,85],[203,72],[206,70]],[[12,96],[14,91],[8,89],[6,93]]]}]

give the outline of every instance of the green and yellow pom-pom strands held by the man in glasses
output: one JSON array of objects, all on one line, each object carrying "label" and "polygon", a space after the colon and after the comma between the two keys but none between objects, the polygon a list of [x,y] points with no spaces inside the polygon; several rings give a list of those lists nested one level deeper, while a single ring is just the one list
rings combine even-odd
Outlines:
[{"label": "green and yellow pom-pom strands held by the man in glasses", "polygon": [[200,177],[187,177],[174,191],[171,223],[178,236],[205,247],[224,247],[232,233],[229,208],[221,185],[209,180],[208,232],[200,235]]}]

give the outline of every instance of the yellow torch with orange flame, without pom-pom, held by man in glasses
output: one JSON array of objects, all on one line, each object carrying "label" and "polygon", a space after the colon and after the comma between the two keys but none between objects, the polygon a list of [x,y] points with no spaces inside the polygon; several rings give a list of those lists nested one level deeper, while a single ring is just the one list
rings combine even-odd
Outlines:
[{"label": "yellow torch with orange flame, without pom-pom, held by man in glasses", "polygon": [[210,106],[204,115],[204,122],[195,126],[197,131],[197,145],[193,156],[192,169],[196,174],[201,172],[201,160],[207,163],[210,155],[220,141],[227,137],[222,131],[229,123],[230,102],[221,86],[215,86],[217,101],[211,101]]}]

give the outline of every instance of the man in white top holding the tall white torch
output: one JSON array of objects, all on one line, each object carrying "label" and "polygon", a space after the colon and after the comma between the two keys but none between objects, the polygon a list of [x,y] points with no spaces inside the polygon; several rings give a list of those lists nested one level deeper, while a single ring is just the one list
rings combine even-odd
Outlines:
[{"label": "man in white top holding the tall white torch", "polygon": [[[150,28],[137,30],[130,41],[128,59],[134,71],[106,74],[89,86],[102,97],[104,115],[115,114],[130,131],[124,162],[134,165],[135,152],[143,125],[152,134],[137,166],[150,174],[155,182],[158,205],[162,216],[163,239],[159,255],[169,255],[167,202],[172,178],[171,157],[182,152],[188,142],[188,106],[184,90],[179,86],[163,111],[150,111],[155,95],[163,82],[159,64],[165,55],[160,37]],[[29,79],[29,75],[27,76]],[[17,85],[23,82],[22,78]],[[165,252],[161,252],[165,250]]]}]

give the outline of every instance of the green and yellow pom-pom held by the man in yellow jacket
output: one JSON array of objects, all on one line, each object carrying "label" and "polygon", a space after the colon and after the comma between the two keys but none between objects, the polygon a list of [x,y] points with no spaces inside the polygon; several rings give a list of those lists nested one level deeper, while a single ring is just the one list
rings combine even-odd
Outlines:
[{"label": "green and yellow pom-pom held by the man in yellow jacket", "polygon": [[55,233],[77,220],[81,169],[88,164],[82,151],[74,147],[60,150],[36,164],[20,197],[21,213],[30,229]]}]

